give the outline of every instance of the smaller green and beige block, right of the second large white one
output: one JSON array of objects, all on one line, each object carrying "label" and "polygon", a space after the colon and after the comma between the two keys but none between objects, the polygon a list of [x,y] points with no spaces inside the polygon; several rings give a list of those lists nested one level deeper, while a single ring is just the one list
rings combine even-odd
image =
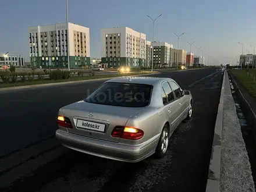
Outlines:
[{"label": "smaller green and beige block, right of the second large white one", "polygon": [[[152,45],[152,44],[151,44]],[[170,66],[172,63],[172,49],[173,45],[167,42],[154,42],[153,44],[153,63],[158,67]]]}]

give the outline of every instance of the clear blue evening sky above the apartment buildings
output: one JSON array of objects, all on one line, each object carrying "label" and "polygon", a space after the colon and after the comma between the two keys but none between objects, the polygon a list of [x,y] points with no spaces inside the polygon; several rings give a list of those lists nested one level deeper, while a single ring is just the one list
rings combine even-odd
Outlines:
[{"label": "clear blue evening sky above the apartment buildings", "polygon": [[[69,22],[90,28],[91,58],[101,58],[101,29],[130,27],[152,41],[168,42],[190,52],[202,47],[214,56],[215,64],[236,65],[242,52],[256,47],[255,0],[69,0]],[[29,61],[28,27],[66,22],[65,0],[8,0],[1,2],[0,54],[24,55]],[[202,55],[202,51],[200,51]],[[205,54],[204,54],[205,55]]]}]

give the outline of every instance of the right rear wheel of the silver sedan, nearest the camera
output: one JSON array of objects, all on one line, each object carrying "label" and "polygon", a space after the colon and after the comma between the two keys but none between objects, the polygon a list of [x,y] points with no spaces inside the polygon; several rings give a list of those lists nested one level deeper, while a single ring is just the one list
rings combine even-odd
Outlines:
[{"label": "right rear wheel of the silver sedan, nearest the camera", "polygon": [[161,159],[165,156],[169,144],[170,129],[167,124],[163,126],[161,136],[158,141],[157,148],[155,150],[155,158]]}]

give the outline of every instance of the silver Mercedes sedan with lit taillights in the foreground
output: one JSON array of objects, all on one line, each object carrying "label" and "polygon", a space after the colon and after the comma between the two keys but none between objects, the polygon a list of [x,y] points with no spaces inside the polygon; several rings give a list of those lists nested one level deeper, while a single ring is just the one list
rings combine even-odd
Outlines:
[{"label": "silver Mercedes sedan with lit taillights in the foreground", "polygon": [[169,138],[192,115],[193,98],[173,79],[120,77],[63,106],[56,138],[72,150],[125,162],[166,154]]}]

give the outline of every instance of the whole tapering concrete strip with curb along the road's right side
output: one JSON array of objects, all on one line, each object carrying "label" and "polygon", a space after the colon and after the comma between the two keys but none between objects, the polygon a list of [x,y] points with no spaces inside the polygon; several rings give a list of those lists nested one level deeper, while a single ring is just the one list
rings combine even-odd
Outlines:
[{"label": "whole tapering concrete strip with curb along the road's right side", "polygon": [[206,191],[255,191],[227,72],[223,76]]}]

